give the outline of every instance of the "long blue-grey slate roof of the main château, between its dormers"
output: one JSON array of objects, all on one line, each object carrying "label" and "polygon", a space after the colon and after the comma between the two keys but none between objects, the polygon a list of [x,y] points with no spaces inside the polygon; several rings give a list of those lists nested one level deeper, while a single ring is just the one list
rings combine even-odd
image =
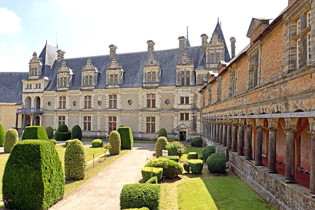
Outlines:
[{"label": "long blue-grey slate roof of the main ch\u00e2teau, between its dormers", "polygon": [[[193,59],[195,69],[205,69],[205,51],[201,52],[201,46],[186,47],[186,52]],[[180,60],[183,52],[179,49],[154,51],[155,59],[159,61],[161,68],[160,85],[159,86],[176,86],[176,64]],[[143,66],[148,61],[149,54],[147,52],[138,53],[122,53],[116,54],[117,62],[121,64],[124,72],[123,84],[121,88],[142,87],[143,86]],[[69,90],[81,89],[81,71],[86,65],[87,59],[90,58],[92,64],[98,69],[98,83],[94,89],[106,88],[106,69],[111,62],[109,55],[67,58],[64,59],[66,66],[73,70],[75,75],[72,76],[72,85]],[[45,91],[57,90],[57,73],[62,62],[55,60],[51,69],[51,82]],[[47,69],[45,69],[47,70]]]}]

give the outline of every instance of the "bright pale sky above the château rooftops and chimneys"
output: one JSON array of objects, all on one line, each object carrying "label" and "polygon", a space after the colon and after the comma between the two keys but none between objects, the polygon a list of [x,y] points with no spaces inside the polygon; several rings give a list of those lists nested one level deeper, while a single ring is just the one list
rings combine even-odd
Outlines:
[{"label": "bright pale sky above the ch\u00e2teau rooftops and chimneys", "polygon": [[[262,3],[263,2],[263,3]],[[275,19],[287,0],[6,0],[0,3],[0,72],[27,72],[32,53],[47,43],[65,51],[65,58],[178,48],[189,26],[191,46],[200,35],[211,38],[219,21],[230,52],[247,44],[251,20]],[[208,40],[208,41],[209,41]]]}]

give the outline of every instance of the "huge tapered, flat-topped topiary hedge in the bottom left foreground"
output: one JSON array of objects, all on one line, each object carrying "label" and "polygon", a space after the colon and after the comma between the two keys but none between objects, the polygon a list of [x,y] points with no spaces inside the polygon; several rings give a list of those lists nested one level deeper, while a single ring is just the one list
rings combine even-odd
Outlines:
[{"label": "huge tapered, flat-topped topiary hedge in the bottom left foreground", "polygon": [[2,179],[5,208],[46,210],[63,192],[63,167],[53,144],[25,140],[14,145]]}]

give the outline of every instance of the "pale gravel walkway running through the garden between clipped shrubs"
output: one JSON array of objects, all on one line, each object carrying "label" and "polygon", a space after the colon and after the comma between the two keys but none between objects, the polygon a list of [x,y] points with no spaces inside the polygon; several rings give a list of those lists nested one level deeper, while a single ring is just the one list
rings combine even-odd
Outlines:
[{"label": "pale gravel walkway running through the garden between clipped shrubs", "polygon": [[139,183],[141,168],[153,158],[155,144],[134,143],[132,150],[81,184],[49,210],[120,210],[124,184]]}]

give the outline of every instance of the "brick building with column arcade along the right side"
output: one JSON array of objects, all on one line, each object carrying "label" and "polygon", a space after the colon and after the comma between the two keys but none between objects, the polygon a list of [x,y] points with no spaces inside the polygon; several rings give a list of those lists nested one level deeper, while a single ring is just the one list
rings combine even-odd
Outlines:
[{"label": "brick building with column arcade along the right side", "polygon": [[202,136],[277,208],[315,209],[315,0],[269,22],[252,18],[250,44],[204,79]]}]

